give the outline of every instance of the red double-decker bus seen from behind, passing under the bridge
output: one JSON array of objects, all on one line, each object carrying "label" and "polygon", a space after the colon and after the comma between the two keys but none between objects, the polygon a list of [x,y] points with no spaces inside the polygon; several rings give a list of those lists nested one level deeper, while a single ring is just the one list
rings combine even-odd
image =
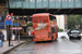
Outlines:
[{"label": "red double-decker bus seen from behind, passing under the bridge", "polygon": [[49,13],[33,14],[33,41],[57,40],[56,16]]}]

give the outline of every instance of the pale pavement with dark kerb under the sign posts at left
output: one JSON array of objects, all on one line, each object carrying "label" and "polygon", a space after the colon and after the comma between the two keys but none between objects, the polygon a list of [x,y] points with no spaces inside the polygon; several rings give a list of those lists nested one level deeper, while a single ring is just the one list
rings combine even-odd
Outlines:
[{"label": "pale pavement with dark kerb under the sign posts at left", "polygon": [[[27,40],[30,40],[30,39],[27,39]],[[0,48],[0,54],[3,54],[3,53],[5,53],[5,52],[8,52],[8,51],[14,49],[14,48],[17,46],[17,45],[25,43],[27,40],[21,40],[20,43],[19,43],[17,40],[11,41],[11,44],[13,44],[13,46],[9,46],[9,41],[4,41],[4,42],[3,42],[3,46]]]}]

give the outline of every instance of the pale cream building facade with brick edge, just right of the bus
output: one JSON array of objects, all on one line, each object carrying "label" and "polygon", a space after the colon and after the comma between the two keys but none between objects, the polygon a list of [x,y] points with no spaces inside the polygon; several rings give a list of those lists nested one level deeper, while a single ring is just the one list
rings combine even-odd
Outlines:
[{"label": "pale cream building facade with brick edge, just right of the bus", "polygon": [[58,28],[60,29],[67,29],[67,15],[56,15],[57,17],[57,25],[58,25]]}]

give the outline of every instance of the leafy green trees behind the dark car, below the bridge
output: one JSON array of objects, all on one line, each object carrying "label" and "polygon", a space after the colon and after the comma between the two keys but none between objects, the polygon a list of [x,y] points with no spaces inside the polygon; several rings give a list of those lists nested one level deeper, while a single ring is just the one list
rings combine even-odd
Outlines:
[{"label": "leafy green trees behind the dark car, below the bridge", "polygon": [[81,15],[68,15],[68,28],[82,28],[82,16]]}]

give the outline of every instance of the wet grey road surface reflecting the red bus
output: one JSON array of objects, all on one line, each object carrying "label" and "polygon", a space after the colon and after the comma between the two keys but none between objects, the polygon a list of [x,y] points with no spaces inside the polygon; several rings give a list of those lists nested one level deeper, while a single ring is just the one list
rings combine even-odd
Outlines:
[{"label": "wet grey road surface reflecting the red bus", "polygon": [[28,42],[10,54],[82,54],[82,40],[69,40],[67,32],[58,32],[58,40]]}]

